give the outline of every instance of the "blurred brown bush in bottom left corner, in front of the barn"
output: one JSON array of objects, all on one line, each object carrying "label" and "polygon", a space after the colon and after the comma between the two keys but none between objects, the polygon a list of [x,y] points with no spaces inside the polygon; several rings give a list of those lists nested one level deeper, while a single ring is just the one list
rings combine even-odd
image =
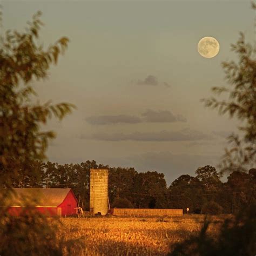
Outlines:
[{"label": "blurred brown bush in bottom left corner, in front of the barn", "polygon": [[1,212],[0,254],[2,255],[62,255],[63,249],[55,230],[58,221],[32,210],[19,217]]}]

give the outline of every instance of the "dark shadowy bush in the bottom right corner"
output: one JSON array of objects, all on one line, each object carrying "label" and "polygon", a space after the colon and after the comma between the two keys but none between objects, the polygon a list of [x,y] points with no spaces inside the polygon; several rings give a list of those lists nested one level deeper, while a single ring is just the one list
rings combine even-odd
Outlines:
[{"label": "dark shadowy bush in the bottom right corner", "polygon": [[256,205],[245,208],[235,218],[226,219],[220,232],[212,236],[207,219],[199,234],[172,246],[170,256],[251,256],[256,252]]}]

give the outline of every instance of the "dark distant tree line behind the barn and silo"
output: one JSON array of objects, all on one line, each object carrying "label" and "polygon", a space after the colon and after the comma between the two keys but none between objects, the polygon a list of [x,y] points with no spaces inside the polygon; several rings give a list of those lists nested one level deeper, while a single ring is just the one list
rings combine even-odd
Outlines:
[{"label": "dark distant tree line behind the barn and silo", "polygon": [[190,213],[236,213],[255,203],[256,169],[234,171],[227,181],[210,165],[194,176],[182,174],[167,186],[163,173],[137,172],[134,168],[110,167],[87,160],[80,164],[35,162],[39,176],[26,174],[15,187],[72,188],[79,206],[89,210],[90,169],[109,169],[109,200],[119,208],[190,208]]}]

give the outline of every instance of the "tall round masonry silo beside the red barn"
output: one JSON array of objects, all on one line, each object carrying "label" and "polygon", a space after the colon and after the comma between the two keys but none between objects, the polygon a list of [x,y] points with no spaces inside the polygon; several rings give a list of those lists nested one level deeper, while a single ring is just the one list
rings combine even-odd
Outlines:
[{"label": "tall round masonry silo beside the red barn", "polygon": [[90,170],[90,212],[106,215],[108,211],[109,170]]}]

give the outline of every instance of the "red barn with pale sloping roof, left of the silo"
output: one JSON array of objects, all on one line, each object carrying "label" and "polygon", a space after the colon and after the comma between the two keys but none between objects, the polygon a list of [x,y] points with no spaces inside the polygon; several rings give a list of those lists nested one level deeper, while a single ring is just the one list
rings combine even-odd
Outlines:
[{"label": "red barn with pale sloping roof, left of the silo", "polygon": [[69,216],[76,213],[77,203],[71,188],[14,188],[8,212],[19,215],[29,207],[51,216]]}]

